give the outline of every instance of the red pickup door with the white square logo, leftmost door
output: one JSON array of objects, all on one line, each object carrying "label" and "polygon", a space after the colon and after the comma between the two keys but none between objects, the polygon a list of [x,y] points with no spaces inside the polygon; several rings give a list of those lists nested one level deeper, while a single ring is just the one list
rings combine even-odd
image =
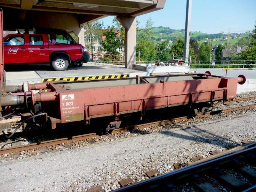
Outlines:
[{"label": "red pickup door with the white square logo, leftmost door", "polygon": [[4,40],[4,63],[25,63],[27,60],[24,35],[11,35]]}]

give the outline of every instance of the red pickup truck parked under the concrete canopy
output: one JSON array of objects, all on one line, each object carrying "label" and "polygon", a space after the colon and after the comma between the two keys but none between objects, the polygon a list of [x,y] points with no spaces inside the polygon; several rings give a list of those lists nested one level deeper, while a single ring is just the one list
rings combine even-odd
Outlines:
[{"label": "red pickup truck parked under the concrete canopy", "polygon": [[68,65],[81,67],[88,62],[87,49],[65,30],[41,30],[40,34],[10,34],[4,38],[4,63],[50,63],[56,71]]}]

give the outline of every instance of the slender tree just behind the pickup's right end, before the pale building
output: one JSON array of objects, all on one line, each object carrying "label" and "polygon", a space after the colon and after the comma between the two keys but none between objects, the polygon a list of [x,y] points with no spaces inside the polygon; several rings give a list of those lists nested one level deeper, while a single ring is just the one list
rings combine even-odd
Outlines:
[{"label": "slender tree just behind the pickup's right end, before the pale building", "polygon": [[[84,26],[84,42],[89,52],[93,52],[93,48],[97,42],[101,43],[101,32],[103,21],[93,21]],[[93,53],[91,54],[93,60]]]}]

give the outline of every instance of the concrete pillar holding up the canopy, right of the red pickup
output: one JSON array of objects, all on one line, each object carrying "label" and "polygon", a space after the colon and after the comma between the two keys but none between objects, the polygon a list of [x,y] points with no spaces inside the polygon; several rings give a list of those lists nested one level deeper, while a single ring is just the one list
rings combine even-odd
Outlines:
[{"label": "concrete pillar holding up the canopy, right of the red pickup", "polygon": [[117,16],[125,29],[125,68],[132,69],[136,61],[136,17]]}]

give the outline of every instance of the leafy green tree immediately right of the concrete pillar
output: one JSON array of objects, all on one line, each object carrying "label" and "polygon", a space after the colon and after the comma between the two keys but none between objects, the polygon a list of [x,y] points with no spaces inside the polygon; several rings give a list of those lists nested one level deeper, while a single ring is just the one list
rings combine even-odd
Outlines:
[{"label": "leafy green tree immediately right of the concrete pillar", "polygon": [[139,57],[144,61],[156,59],[155,42],[151,39],[154,35],[154,29],[152,28],[153,22],[151,17],[148,18],[145,28],[138,28],[136,30],[136,57]]}]

